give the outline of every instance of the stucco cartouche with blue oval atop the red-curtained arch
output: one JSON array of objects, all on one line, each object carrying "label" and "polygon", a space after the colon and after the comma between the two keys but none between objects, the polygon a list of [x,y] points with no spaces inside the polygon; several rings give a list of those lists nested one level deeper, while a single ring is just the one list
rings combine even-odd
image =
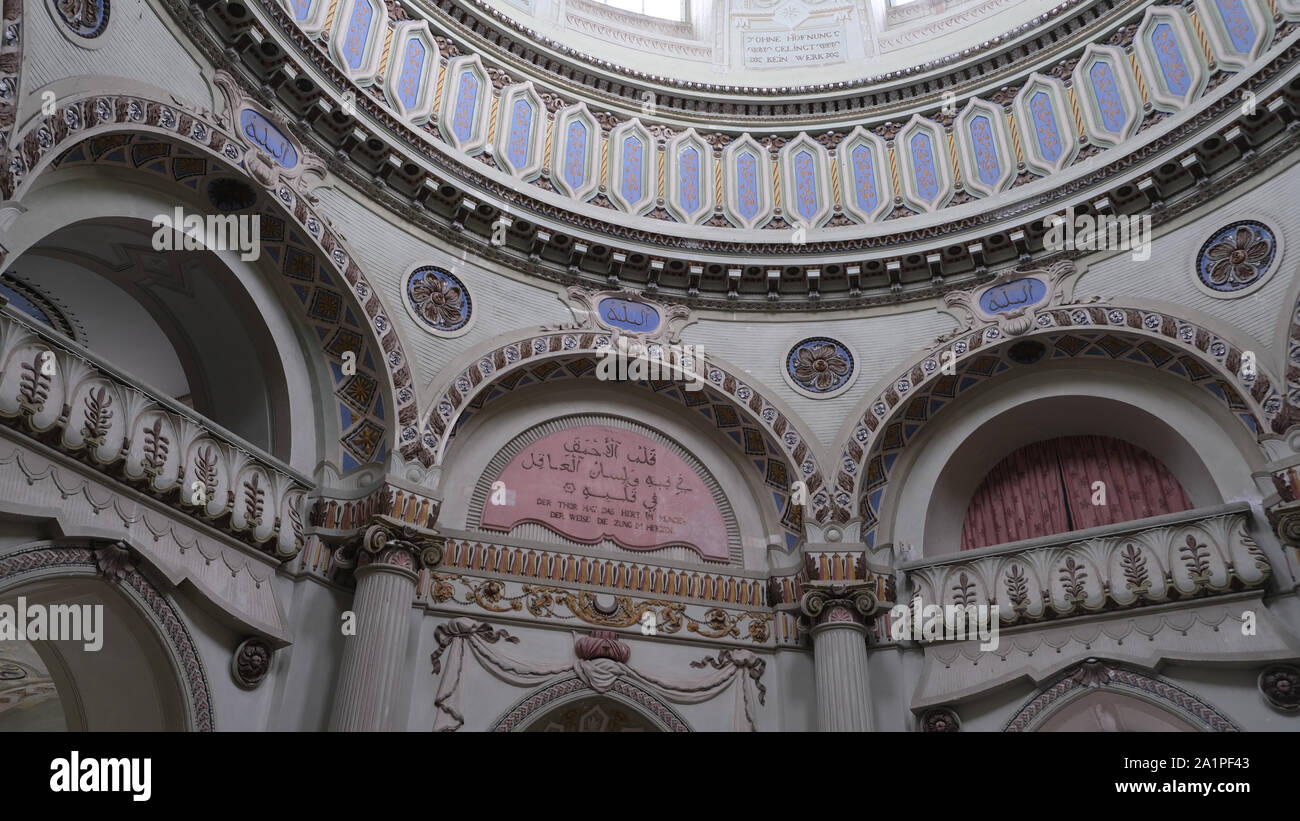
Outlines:
[{"label": "stucco cartouche with blue oval atop the red-curtained arch", "polygon": [[978,327],[996,329],[1001,336],[1019,336],[1034,329],[1035,320],[1044,310],[1101,301],[1100,296],[1074,300],[1075,277],[1074,262],[1061,260],[1046,268],[1005,272],[978,288],[950,291],[944,296],[944,310],[962,325],[937,342],[948,342]]}]

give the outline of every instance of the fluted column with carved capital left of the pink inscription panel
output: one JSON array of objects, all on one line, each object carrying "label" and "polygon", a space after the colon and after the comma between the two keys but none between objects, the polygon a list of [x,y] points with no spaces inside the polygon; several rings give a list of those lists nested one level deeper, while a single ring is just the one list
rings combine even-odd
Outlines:
[{"label": "fluted column with carved capital left of the pink inscription panel", "polygon": [[411,603],[421,566],[442,561],[437,534],[377,517],[360,543],[335,552],[341,566],[355,566],[356,635],[343,640],[343,663],[334,688],[330,730],[391,730],[398,678],[407,670]]}]

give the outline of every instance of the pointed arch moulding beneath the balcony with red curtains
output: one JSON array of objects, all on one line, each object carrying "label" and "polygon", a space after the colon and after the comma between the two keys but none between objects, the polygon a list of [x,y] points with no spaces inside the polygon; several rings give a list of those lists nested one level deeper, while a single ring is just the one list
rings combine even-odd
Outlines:
[{"label": "pointed arch moulding beneath the balcony with red curtains", "polygon": [[1015,711],[1002,731],[1032,733],[1060,714],[1060,711],[1096,692],[1118,694],[1152,704],[1205,733],[1235,733],[1240,729],[1213,705],[1178,685],[1127,666],[1088,659],[1031,696]]}]

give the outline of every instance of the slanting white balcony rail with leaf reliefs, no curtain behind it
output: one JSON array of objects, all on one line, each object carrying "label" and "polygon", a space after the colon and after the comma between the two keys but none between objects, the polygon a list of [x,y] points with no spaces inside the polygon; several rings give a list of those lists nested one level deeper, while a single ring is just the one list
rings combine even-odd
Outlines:
[{"label": "slanting white balcony rail with leaf reliefs, no curtain behind it", "polygon": [[0,425],[255,549],[302,549],[307,477],[3,297]]}]

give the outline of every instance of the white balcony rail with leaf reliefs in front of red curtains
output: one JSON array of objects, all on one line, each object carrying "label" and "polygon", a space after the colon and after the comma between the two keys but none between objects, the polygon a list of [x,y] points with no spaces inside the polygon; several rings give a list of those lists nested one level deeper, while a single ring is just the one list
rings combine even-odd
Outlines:
[{"label": "white balcony rail with leaf reliefs in front of red curtains", "polygon": [[[920,604],[1000,605],[1002,626],[1262,588],[1247,503],[905,562]],[[907,600],[907,599],[901,599]]]}]

